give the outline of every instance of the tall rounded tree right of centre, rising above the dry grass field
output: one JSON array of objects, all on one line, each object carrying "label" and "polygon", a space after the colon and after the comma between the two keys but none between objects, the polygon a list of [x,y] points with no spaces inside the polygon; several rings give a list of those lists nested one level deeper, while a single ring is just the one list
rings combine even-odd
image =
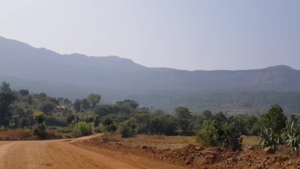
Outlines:
[{"label": "tall rounded tree right of centre, rising above the dry grass field", "polygon": [[191,126],[190,126],[190,120],[191,120],[191,113],[188,110],[187,107],[177,107],[175,109],[175,117],[178,122],[178,127],[180,132],[183,135],[190,135],[191,134]]}]

